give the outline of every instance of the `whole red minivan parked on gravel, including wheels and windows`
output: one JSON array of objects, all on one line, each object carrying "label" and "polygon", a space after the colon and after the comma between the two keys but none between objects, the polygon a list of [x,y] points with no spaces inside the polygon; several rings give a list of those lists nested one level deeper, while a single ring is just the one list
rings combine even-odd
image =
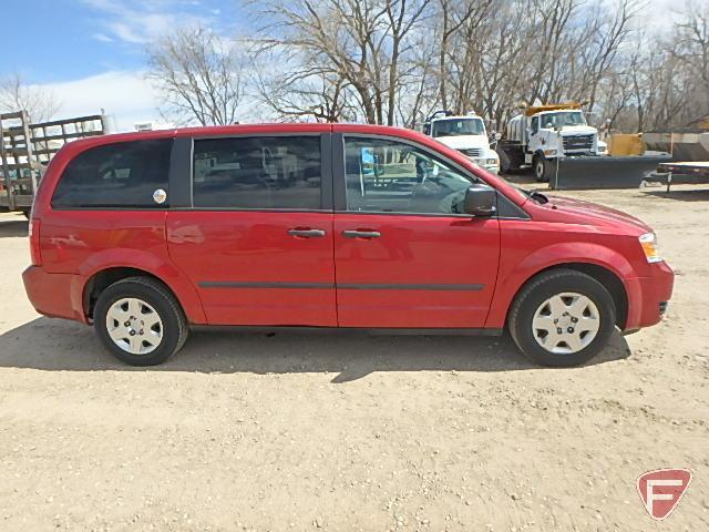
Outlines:
[{"label": "whole red minivan parked on gravel, including wheels and windows", "polygon": [[582,364],[657,324],[674,274],[618,211],[522,191],[413,131],[260,124],[96,136],[51,162],[24,285],[132,365],[191,326],[500,335]]}]

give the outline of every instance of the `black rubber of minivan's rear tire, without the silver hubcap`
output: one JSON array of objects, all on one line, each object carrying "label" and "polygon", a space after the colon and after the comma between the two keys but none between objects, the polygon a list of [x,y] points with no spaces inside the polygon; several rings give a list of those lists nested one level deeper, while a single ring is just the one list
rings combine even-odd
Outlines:
[{"label": "black rubber of minivan's rear tire, without the silver hubcap", "polygon": [[[134,355],[123,350],[109,336],[106,314],[122,298],[141,299],[152,306],[160,316],[163,338],[150,354]],[[177,352],[189,332],[185,314],[175,296],[161,282],[151,277],[127,277],[104,289],[94,307],[94,327],[104,347],[119,360],[131,366],[156,366]]]}]

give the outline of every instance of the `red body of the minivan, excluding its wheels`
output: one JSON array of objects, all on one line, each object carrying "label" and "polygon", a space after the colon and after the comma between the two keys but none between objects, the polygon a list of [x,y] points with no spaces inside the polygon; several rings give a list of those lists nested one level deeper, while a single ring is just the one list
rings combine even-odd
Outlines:
[{"label": "red body of the minivan, excluding its wheels", "polygon": [[[266,147],[238,161],[230,155],[236,147],[228,156],[220,147],[258,139],[266,139]],[[56,205],[72,161],[106,146],[161,141],[169,142],[164,206]],[[297,160],[298,149],[290,146],[304,142],[318,146],[317,161]],[[401,146],[415,156],[407,158]],[[308,176],[316,164],[319,170]],[[257,177],[229,190],[242,191],[238,197],[258,190],[269,206],[261,200],[254,207],[220,203],[220,183],[249,165],[257,166],[249,174]],[[106,174],[106,182],[115,174]],[[460,176],[495,191],[494,215],[440,207],[454,194],[439,191]],[[206,207],[197,204],[198,194]],[[270,207],[274,197],[288,194],[319,194],[318,204]],[[671,269],[643,243],[649,238],[651,229],[629,215],[527,194],[413,131],[352,124],[182,129],[65,145],[35,198],[32,265],[23,278],[39,313],[83,323],[92,323],[102,288],[145,275],[174,294],[191,325],[496,334],[531,279],[566,268],[603,284],[617,327],[635,330],[660,320],[672,290]]]}]

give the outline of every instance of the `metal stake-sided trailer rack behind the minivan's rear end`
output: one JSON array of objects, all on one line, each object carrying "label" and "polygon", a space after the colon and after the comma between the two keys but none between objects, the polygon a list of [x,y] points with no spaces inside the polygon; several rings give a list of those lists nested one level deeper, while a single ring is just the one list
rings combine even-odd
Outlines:
[{"label": "metal stake-sided trailer rack behind the minivan's rear end", "polygon": [[24,111],[0,114],[0,209],[29,212],[52,156],[68,142],[105,131],[101,114],[37,124]]}]

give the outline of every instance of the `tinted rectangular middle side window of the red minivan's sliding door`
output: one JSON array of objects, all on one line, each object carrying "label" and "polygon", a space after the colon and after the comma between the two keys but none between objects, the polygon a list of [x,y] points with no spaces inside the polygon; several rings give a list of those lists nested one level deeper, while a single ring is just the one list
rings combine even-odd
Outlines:
[{"label": "tinted rectangular middle side window of the red minivan's sliding door", "polygon": [[320,208],[320,136],[195,141],[194,207]]}]

